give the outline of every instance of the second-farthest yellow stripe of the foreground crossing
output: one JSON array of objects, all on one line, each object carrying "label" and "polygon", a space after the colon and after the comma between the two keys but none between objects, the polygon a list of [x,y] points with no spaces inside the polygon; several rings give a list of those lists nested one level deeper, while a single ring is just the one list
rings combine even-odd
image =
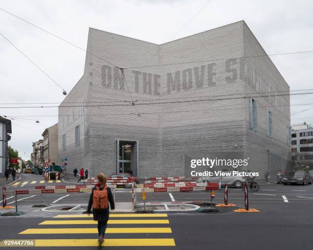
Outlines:
[{"label": "second-farthest yellow stripe of the foreground crossing", "polygon": [[[96,220],[44,220],[39,225],[97,224]],[[108,224],[169,224],[168,219],[109,219]]]}]

